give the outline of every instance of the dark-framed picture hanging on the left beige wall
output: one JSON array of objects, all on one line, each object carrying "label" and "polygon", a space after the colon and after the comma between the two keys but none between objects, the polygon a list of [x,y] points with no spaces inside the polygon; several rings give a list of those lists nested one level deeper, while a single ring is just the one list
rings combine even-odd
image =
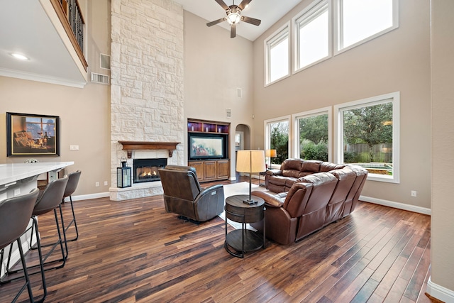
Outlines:
[{"label": "dark-framed picture hanging on the left beige wall", "polygon": [[6,113],[6,156],[59,156],[60,117]]}]

